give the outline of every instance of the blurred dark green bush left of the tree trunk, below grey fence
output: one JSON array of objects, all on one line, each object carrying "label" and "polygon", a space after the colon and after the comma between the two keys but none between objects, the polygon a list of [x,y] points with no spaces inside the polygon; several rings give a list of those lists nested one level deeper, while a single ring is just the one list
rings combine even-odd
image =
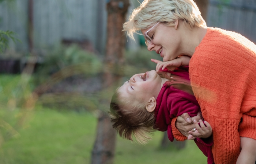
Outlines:
[{"label": "blurred dark green bush left of the tree trunk, below grey fence", "polygon": [[102,64],[100,58],[92,52],[82,50],[76,44],[68,47],[58,47],[44,56],[44,62],[37,68],[34,79],[35,85],[49,80],[50,76],[69,66],[84,65],[84,75],[91,76],[98,73],[97,67]]}]

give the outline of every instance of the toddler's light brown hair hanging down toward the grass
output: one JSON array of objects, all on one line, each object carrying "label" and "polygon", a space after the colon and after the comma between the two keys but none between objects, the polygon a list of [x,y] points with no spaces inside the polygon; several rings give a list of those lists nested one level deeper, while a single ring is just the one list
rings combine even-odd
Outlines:
[{"label": "toddler's light brown hair hanging down toward the grass", "polygon": [[121,97],[118,89],[110,103],[109,116],[118,134],[132,140],[132,136],[141,144],[146,144],[151,139],[155,123],[154,112],[146,110],[146,104],[139,101],[129,101]]}]

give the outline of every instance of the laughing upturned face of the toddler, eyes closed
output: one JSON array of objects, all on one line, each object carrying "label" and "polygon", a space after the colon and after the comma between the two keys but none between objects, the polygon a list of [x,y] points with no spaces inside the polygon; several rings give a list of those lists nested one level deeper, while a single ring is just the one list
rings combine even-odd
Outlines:
[{"label": "laughing upturned face of the toddler, eyes closed", "polygon": [[162,80],[157,72],[151,70],[146,73],[133,75],[118,91],[122,97],[129,100],[147,101],[151,97],[157,99],[162,87],[161,82]]}]

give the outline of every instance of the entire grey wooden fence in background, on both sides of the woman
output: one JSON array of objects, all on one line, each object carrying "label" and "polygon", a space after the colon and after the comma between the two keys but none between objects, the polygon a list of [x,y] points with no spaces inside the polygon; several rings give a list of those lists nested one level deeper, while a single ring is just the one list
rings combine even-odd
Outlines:
[{"label": "entire grey wooden fence in background, on both sides of the woman", "polygon": [[[106,0],[34,0],[35,50],[43,52],[62,39],[74,39],[90,40],[98,51],[103,52],[105,3]],[[28,0],[1,3],[0,18],[0,29],[16,32],[22,41],[22,44],[11,43],[10,46],[16,51],[27,52]],[[256,42],[256,0],[209,0],[207,26],[236,31]]]}]

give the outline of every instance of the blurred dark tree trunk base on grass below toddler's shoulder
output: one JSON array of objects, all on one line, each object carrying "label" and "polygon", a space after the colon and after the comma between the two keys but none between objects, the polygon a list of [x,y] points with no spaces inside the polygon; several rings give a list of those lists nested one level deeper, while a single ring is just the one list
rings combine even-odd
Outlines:
[{"label": "blurred dark tree trunk base on grass below toddler's shoulder", "polygon": [[186,145],[186,141],[181,142],[181,141],[176,141],[176,139],[174,139],[173,142],[170,142],[167,131],[164,132],[163,139],[161,142],[161,148],[165,149],[168,147],[174,147],[177,149],[183,149],[185,148],[185,145]]}]

